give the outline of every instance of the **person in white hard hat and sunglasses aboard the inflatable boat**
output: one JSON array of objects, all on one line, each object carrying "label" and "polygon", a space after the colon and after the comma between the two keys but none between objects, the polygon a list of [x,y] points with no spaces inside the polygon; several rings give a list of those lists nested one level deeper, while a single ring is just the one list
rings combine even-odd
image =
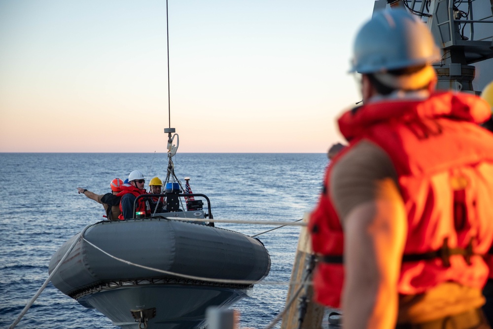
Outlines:
[{"label": "person in white hard hat and sunglasses aboard the inflatable boat", "polygon": [[[134,202],[135,199],[141,195],[146,194],[147,192],[144,189],[145,178],[144,174],[142,174],[139,170],[134,170],[128,175],[128,184],[123,184],[122,191],[118,193],[118,196],[121,196],[120,201],[120,210],[121,215],[118,217],[119,219],[131,219],[134,218]],[[139,199],[137,203],[136,213],[145,214],[143,217],[147,217],[150,215],[150,206],[149,201],[145,198]]]}]

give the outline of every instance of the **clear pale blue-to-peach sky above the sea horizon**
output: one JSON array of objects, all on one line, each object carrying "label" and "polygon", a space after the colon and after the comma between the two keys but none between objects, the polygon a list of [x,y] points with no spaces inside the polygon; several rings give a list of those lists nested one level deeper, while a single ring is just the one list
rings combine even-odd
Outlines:
[{"label": "clear pale blue-to-peach sky above the sea horizon", "polygon": [[0,152],[324,153],[373,5],[169,0],[168,103],[165,0],[0,0]]}]

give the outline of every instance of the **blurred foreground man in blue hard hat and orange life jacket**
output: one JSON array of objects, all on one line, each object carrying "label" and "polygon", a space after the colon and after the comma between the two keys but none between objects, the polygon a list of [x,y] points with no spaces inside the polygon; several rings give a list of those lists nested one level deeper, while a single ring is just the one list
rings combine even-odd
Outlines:
[{"label": "blurred foreground man in blue hard hat and orange life jacket", "polygon": [[490,108],[434,91],[440,52],[403,9],[375,13],[353,50],[364,105],[339,118],[349,145],[310,218],[315,298],[341,308],[343,328],[490,328]]}]

